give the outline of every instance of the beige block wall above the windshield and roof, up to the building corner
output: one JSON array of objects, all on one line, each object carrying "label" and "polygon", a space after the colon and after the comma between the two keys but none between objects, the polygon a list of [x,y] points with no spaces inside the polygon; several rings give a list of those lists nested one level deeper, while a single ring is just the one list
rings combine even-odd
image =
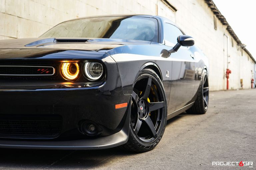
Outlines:
[{"label": "beige block wall above the windshield and roof, up to the building corner", "polygon": [[174,11],[161,0],[0,0],[0,39],[39,37],[60,22],[79,17],[157,11],[175,21]]}]

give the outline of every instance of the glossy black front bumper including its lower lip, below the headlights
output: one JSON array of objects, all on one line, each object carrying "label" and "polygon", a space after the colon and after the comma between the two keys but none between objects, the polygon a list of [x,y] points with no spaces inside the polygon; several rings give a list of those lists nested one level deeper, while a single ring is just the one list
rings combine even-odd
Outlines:
[{"label": "glossy black front bumper including its lower lip, below the headlights", "polygon": [[[37,120],[56,116],[61,118],[59,119],[61,130],[54,136],[35,134],[24,136],[21,133],[16,134],[17,127],[14,129],[15,133],[9,130],[3,135],[0,127],[0,147],[100,149],[126,143],[129,135],[131,95],[123,94],[116,63],[114,61],[104,61],[104,63],[107,66],[108,77],[102,84],[0,85],[0,121],[2,121],[0,125],[1,123],[5,125],[7,122],[11,127],[13,122],[22,117],[36,117]],[[115,105],[121,103],[128,103],[128,106],[115,109]],[[1,119],[2,117],[4,119]],[[12,117],[15,117],[14,121]],[[32,120],[33,124],[36,124],[37,120]],[[12,122],[12,125],[8,121]],[[95,123],[99,129],[98,133],[93,136],[85,134],[81,130],[81,125],[85,121]],[[24,123],[23,120],[18,120],[18,123],[20,122]],[[22,133],[30,130],[28,128],[24,130],[24,124],[22,126],[20,127]]]}]

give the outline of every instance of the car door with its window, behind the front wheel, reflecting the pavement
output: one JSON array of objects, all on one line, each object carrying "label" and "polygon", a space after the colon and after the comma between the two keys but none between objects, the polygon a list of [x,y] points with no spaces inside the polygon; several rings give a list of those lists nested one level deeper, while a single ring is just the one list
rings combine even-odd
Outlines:
[{"label": "car door with its window, behind the front wheel, reflecting the pavement", "polygon": [[[169,23],[165,23],[165,45],[173,47],[182,31]],[[172,53],[171,90],[168,104],[168,113],[172,113],[189,104],[194,94],[196,62],[189,47],[181,46]]]}]

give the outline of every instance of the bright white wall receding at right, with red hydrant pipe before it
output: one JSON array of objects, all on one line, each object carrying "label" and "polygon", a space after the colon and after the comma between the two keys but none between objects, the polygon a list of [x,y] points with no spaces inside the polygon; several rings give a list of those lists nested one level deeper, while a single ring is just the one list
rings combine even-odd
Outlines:
[{"label": "bright white wall receding at right, with red hydrant pipe before it", "polygon": [[241,48],[237,48],[235,41],[232,47],[231,35],[226,27],[217,20],[217,30],[214,29],[214,14],[203,0],[168,0],[177,8],[176,23],[187,35],[195,38],[198,45],[209,58],[210,88],[224,90],[227,86],[225,72],[227,69],[227,50],[224,43],[224,34],[229,37],[228,68],[232,71],[229,78],[229,88],[241,88],[240,79],[243,79],[243,88],[251,88],[252,59]]}]

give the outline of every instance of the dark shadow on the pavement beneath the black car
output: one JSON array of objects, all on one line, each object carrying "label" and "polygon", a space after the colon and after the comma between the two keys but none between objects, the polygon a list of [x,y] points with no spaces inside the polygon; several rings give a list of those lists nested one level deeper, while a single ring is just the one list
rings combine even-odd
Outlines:
[{"label": "dark shadow on the pavement beneath the black car", "polygon": [[[182,113],[167,126],[186,116]],[[0,169],[91,169],[136,154],[119,148],[101,150],[39,150],[0,148]],[[143,154],[143,153],[142,153]]]}]

